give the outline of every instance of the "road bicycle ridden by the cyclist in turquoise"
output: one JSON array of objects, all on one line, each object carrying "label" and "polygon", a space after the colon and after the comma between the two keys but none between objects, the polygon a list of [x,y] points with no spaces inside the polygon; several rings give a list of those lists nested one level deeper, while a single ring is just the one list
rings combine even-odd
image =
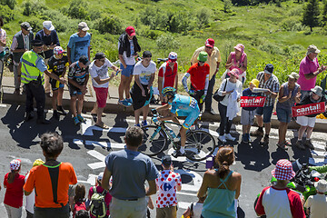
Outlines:
[{"label": "road bicycle ridden by the cyclist in turquoise", "polygon": [[[158,116],[156,110],[152,111]],[[175,125],[180,129],[182,124],[171,121],[157,122],[156,124],[142,127],[144,139],[138,151],[148,156],[154,156],[163,152],[170,143],[173,149],[179,151],[181,140],[167,124]],[[212,134],[203,130],[195,130],[192,127],[186,132],[185,156],[192,161],[203,161],[213,154],[215,141]]]}]

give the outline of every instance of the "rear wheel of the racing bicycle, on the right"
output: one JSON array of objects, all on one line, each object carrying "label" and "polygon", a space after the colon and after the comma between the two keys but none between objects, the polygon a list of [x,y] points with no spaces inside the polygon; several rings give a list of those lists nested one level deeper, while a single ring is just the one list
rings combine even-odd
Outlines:
[{"label": "rear wheel of the racing bicycle, on the right", "polygon": [[192,161],[205,160],[213,154],[215,141],[213,135],[203,130],[194,130],[186,134],[185,154]]}]

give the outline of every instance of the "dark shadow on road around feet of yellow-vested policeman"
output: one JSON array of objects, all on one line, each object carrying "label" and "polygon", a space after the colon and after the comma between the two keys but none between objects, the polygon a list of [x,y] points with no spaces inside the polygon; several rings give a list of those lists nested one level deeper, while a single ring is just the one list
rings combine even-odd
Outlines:
[{"label": "dark shadow on road around feet of yellow-vested policeman", "polygon": [[36,124],[35,118],[28,122],[24,121],[25,106],[12,104],[7,113],[1,118],[3,124],[7,124],[9,134],[18,146],[29,149],[30,146],[39,144],[39,137],[46,132],[54,132],[56,124]]}]

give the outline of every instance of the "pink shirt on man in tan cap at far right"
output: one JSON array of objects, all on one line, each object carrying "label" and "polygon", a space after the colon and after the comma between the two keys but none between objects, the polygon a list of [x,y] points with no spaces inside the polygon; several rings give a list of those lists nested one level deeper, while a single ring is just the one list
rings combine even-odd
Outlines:
[{"label": "pink shirt on man in tan cap at far right", "polygon": [[300,77],[297,81],[297,83],[301,85],[301,90],[310,91],[315,86],[317,76],[307,80],[304,77],[304,74],[312,74],[316,72],[318,68],[319,68],[319,64],[317,58],[314,58],[314,60],[312,61],[308,56],[305,56],[302,59],[300,64],[300,71],[299,71]]}]

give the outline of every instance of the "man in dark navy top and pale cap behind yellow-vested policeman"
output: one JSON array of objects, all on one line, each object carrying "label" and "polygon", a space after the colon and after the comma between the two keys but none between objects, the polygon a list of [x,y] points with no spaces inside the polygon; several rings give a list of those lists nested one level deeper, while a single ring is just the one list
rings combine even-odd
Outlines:
[{"label": "man in dark navy top and pale cap behind yellow-vested policeman", "polygon": [[[36,33],[35,39],[40,40],[44,44],[41,55],[45,58],[45,65],[47,65],[49,58],[54,55],[54,47],[60,46],[60,43],[52,22],[45,21],[43,26],[44,28]],[[50,90],[49,76],[45,74],[45,95],[48,97],[51,97]]]}]

